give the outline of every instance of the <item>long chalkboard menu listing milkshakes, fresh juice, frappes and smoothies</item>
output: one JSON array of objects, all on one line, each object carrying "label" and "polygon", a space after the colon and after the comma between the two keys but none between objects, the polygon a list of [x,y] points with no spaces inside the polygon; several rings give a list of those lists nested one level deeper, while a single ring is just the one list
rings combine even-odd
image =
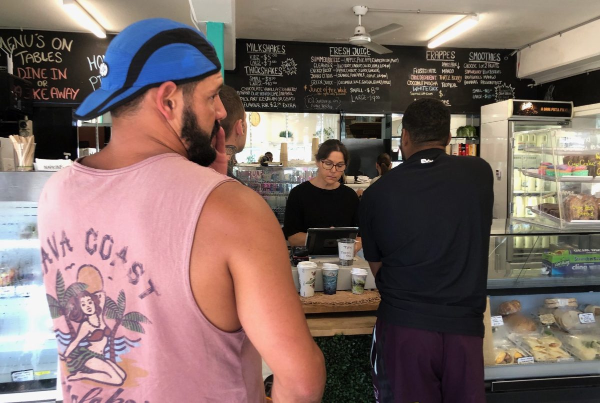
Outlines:
[{"label": "long chalkboard menu listing milkshakes, fresh juice, frappes and smoothies", "polygon": [[505,49],[388,46],[378,55],[350,44],[237,40],[226,83],[250,111],[401,112],[436,97],[456,114],[535,91]]}]

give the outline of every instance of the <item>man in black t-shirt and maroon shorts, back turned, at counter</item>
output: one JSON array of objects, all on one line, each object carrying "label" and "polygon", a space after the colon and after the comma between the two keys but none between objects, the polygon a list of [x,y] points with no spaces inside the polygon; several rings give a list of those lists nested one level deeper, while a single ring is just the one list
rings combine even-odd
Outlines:
[{"label": "man in black t-shirt and maroon shorts, back turned, at counter", "polygon": [[485,402],[482,342],[493,174],[445,154],[450,112],[419,99],[403,117],[404,163],[365,190],[365,259],[381,294],[377,402]]}]

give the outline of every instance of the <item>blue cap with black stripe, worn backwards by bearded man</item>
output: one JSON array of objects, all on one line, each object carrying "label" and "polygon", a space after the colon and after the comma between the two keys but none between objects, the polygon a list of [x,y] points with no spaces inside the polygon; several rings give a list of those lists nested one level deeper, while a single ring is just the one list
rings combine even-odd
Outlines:
[{"label": "blue cap with black stripe, worn backwards by bearded man", "polygon": [[165,18],[142,20],[110,42],[100,65],[102,85],[74,115],[95,118],[163,82],[197,81],[220,70],[217,52],[202,32]]}]

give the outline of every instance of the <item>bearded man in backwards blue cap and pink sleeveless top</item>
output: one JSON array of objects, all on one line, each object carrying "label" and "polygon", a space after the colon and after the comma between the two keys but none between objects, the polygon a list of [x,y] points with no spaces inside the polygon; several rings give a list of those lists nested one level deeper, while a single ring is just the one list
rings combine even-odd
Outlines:
[{"label": "bearded man in backwards blue cap and pink sleeveless top", "polygon": [[110,112],[113,128],[38,208],[65,400],[263,402],[262,356],[275,401],[320,402],[323,356],[281,228],[224,175],[220,67],[201,32],[143,20],[110,43],[77,109]]}]

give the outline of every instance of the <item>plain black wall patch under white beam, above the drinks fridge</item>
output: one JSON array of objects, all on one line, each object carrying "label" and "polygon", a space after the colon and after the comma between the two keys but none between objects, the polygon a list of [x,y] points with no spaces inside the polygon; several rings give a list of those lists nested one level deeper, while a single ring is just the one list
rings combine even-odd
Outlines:
[{"label": "plain black wall patch under white beam, above the drinks fridge", "polygon": [[579,74],[538,87],[538,99],[572,101],[575,106],[600,102],[600,70]]}]

